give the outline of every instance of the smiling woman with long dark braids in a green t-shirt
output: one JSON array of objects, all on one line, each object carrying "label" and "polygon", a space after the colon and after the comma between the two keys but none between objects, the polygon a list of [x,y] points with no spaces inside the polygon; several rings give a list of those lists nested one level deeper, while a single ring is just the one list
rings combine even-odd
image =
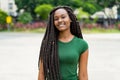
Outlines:
[{"label": "smiling woman with long dark braids in a green t-shirt", "polygon": [[56,7],[48,21],[40,50],[38,80],[88,80],[88,44],[73,10]]}]

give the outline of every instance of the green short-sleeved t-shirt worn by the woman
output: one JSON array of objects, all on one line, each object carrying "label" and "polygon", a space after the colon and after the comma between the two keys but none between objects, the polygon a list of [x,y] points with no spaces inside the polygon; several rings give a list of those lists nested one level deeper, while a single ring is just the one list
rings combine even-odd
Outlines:
[{"label": "green short-sleeved t-shirt worn by the woman", "polygon": [[78,80],[77,64],[79,57],[87,49],[87,42],[75,36],[70,42],[58,41],[60,75],[62,80]]}]

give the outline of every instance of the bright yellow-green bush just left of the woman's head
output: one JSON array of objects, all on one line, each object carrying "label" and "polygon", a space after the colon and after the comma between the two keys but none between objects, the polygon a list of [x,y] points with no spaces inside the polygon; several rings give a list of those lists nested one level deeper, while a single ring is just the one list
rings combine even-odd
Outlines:
[{"label": "bright yellow-green bush just left of the woman's head", "polygon": [[39,5],[35,8],[35,13],[37,13],[42,20],[47,20],[49,12],[53,7],[49,4]]}]

